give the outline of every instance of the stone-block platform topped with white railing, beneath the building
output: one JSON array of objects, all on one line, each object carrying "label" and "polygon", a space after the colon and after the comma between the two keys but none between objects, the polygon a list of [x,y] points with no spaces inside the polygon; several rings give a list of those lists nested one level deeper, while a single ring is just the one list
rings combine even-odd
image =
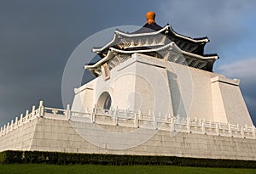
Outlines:
[{"label": "stone-block platform topped with white railing, beneath the building", "polygon": [[43,103],[3,126],[0,142],[0,151],[256,160],[253,126],[190,121],[128,110],[94,109],[78,113],[47,108]]}]

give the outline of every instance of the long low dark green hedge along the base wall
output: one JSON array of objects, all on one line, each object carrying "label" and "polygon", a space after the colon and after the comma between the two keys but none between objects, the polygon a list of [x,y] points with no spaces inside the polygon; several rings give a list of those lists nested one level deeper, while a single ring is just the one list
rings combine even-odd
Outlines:
[{"label": "long low dark green hedge along the base wall", "polygon": [[75,154],[42,151],[3,151],[0,163],[47,163],[56,165],[68,164],[101,164],[101,165],[172,165],[201,166],[226,168],[256,168],[255,160],[218,160],[183,158],[176,156],[153,155],[118,155],[118,154]]}]

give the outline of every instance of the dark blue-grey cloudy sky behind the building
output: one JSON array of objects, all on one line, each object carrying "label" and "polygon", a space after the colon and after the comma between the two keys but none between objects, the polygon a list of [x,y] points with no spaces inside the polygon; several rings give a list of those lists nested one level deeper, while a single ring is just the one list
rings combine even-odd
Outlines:
[{"label": "dark blue-grey cloudy sky behind the building", "polygon": [[62,74],[79,43],[109,27],[143,25],[148,10],[159,25],[209,37],[206,53],[220,57],[214,71],[241,79],[256,122],[254,0],[0,0],[0,126],[39,100],[63,108]]}]

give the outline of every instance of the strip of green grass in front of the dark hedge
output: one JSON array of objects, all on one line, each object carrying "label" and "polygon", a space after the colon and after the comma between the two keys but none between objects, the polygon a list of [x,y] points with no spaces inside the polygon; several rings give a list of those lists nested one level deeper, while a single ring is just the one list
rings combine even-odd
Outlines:
[{"label": "strip of green grass in front of the dark hedge", "polygon": [[203,168],[185,166],[101,166],[101,165],[46,165],[46,164],[0,164],[0,174],[56,174],[56,173],[255,173],[255,169]]}]

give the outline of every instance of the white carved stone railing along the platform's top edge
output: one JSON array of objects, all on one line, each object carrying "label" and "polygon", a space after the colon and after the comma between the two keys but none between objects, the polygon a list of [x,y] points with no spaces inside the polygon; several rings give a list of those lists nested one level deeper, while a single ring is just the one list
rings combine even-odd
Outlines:
[{"label": "white carved stone railing along the platform's top edge", "polygon": [[26,115],[20,115],[12,120],[7,125],[0,129],[0,137],[23,126],[29,121],[37,117],[55,120],[66,121],[83,121],[103,125],[119,125],[129,127],[144,127],[148,129],[159,129],[170,132],[189,132],[197,134],[218,135],[224,137],[237,138],[253,138],[255,139],[254,126],[239,126],[230,123],[220,123],[213,121],[205,121],[199,118],[191,120],[190,118],[173,117],[171,115],[161,115],[156,113],[142,113],[141,111],[131,111],[128,109],[97,109],[90,111],[77,112],[70,109],[55,109],[44,107],[43,101],[40,101],[38,109],[32,106],[32,111],[29,113],[26,110]]}]

